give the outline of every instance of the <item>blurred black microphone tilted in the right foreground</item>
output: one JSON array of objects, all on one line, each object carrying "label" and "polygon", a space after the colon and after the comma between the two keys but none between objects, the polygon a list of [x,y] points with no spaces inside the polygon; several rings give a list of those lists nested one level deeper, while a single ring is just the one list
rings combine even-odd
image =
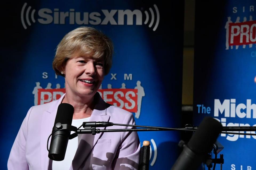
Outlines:
[{"label": "blurred black microphone tilted in the right foreground", "polygon": [[184,146],[171,170],[197,169],[205,156],[213,149],[213,144],[221,130],[222,125],[220,122],[214,118],[205,117],[187,146]]}]

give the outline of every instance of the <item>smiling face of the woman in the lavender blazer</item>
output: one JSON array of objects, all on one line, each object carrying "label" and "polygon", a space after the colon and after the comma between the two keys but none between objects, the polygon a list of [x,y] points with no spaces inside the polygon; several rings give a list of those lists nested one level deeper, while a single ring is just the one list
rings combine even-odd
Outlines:
[{"label": "smiling face of the woman in the lavender blazer", "polygon": [[104,60],[74,53],[65,66],[67,95],[93,97],[104,78]]}]

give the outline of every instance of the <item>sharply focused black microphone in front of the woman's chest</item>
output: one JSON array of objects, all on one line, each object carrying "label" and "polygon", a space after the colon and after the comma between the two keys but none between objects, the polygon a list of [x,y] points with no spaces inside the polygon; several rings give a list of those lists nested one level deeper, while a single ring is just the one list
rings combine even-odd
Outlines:
[{"label": "sharply focused black microphone in front of the woman's chest", "polygon": [[[51,160],[61,161],[65,157],[67,143],[69,141],[69,130],[58,130],[57,123],[71,125],[74,107],[68,103],[61,103],[58,107],[48,157]],[[56,131],[57,130],[57,131]]]}]

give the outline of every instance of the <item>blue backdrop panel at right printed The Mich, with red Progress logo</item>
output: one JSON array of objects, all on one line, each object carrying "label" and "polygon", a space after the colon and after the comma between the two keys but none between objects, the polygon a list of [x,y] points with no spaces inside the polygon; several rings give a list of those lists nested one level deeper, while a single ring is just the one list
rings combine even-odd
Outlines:
[{"label": "blue backdrop panel at right printed The Mich, with red Progress logo", "polygon": [[[256,2],[197,1],[195,9],[195,125],[211,116],[223,126],[256,126]],[[223,169],[256,169],[255,140],[221,134]]]}]

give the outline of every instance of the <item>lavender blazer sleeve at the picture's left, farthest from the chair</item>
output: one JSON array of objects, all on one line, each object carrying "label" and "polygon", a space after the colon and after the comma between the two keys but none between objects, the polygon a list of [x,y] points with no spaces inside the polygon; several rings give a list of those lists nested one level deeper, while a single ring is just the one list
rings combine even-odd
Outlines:
[{"label": "lavender blazer sleeve at the picture's left, farthest from the chair", "polygon": [[13,147],[11,148],[11,152],[9,155],[9,159],[7,162],[7,168],[9,170],[13,169],[29,169],[26,160],[26,140],[27,140],[27,124],[29,120],[29,116],[33,107],[29,109],[26,117],[24,118],[19,132],[15,138],[13,143]]}]

